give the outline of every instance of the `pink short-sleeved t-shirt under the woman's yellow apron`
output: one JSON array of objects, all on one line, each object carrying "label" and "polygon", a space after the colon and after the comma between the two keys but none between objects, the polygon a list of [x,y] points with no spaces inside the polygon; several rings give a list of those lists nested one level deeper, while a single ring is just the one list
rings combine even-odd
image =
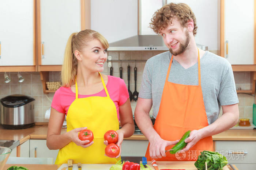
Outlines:
[{"label": "pink short-sleeved t-shirt under the woman's yellow apron", "polygon": [[[124,104],[129,98],[126,84],[124,83],[123,79],[108,75],[108,83],[106,84],[106,88],[108,89],[110,98],[116,105],[117,118],[119,120],[119,106]],[[107,95],[103,88],[100,92],[96,94],[78,95],[78,98],[87,98],[90,96],[105,97]],[[53,96],[52,107],[57,111],[65,113],[67,115],[68,108],[71,103],[74,102],[75,98],[76,94],[71,90],[70,87],[60,87]]]}]

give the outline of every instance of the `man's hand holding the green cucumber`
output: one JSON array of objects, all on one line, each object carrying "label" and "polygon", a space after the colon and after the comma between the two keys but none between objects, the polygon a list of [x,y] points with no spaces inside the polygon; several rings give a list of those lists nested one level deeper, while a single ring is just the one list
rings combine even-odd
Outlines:
[{"label": "man's hand holding the green cucumber", "polygon": [[191,133],[189,134],[189,137],[187,139],[185,139],[184,142],[187,143],[187,146],[184,147],[185,152],[187,152],[191,147],[193,147],[194,145],[196,145],[196,143],[202,139],[202,133],[200,130],[192,130]]}]

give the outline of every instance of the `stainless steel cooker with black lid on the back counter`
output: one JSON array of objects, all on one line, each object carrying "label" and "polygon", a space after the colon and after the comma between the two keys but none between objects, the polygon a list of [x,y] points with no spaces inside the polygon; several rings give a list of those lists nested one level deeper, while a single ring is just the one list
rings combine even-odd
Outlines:
[{"label": "stainless steel cooker with black lid on the back counter", "polygon": [[23,129],[35,124],[35,99],[26,95],[10,95],[0,100],[0,124],[6,129]]}]

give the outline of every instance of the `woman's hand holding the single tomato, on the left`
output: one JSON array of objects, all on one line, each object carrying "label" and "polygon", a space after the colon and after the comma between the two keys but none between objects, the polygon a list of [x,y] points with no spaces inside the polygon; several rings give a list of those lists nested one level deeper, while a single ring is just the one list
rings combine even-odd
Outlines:
[{"label": "woman's hand holding the single tomato, on the left", "polygon": [[83,129],[87,129],[87,127],[80,127],[80,128],[73,129],[73,130],[68,132],[68,136],[69,136],[70,140],[72,142],[74,142],[77,146],[82,146],[82,147],[86,148],[86,147],[89,147],[89,146],[93,145],[94,142],[92,141],[91,143],[84,144],[84,143],[89,142],[89,140],[81,141],[78,138],[79,132]]}]

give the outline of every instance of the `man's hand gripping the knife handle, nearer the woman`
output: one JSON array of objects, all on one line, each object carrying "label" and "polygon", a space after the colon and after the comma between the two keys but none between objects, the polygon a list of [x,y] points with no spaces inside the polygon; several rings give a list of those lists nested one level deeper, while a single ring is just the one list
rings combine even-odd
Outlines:
[{"label": "man's hand gripping the knife handle, nearer the woman", "polygon": [[153,138],[150,141],[149,154],[151,158],[162,158],[166,157],[165,148],[170,145],[175,145],[179,140],[176,141],[165,141],[162,138]]}]

